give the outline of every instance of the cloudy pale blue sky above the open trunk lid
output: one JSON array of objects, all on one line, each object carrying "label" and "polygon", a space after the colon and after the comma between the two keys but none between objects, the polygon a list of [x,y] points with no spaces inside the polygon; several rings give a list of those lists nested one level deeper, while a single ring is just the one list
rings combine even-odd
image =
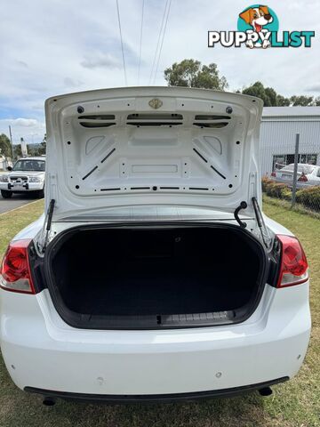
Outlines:
[{"label": "cloudy pale blue sky above the open trunk lid", "polygon": [[[165,0],[118,0],[128,85],[149,85]],[[266,4],[266,3],[264,3]],[[243,0],[172,0],[153,85],[164,69],[193,58],[218,64],[229,90],[260,80],[277,93],[320,95],[320,2],[272,0],[280,31],[316,31],[311,48],[207,47],[208,30],[236,30]],[[2,0],[0,5],[0,133],[13,143],[42,141],[44,101],[52,95],[124,86],[116,0]],[[156,60],[157,62],[157,60]]]}]

